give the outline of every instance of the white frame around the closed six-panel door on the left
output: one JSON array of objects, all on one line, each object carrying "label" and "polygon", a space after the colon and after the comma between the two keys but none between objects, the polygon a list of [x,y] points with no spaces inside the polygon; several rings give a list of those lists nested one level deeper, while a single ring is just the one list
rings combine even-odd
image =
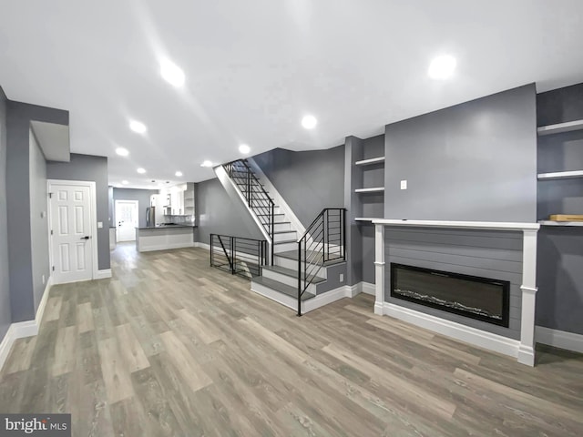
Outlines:
[{"label": "white frame around the closed six-panel door on the left", "polygon": [[[51,187],[54,185],[65,185],[68,187],[88,187],[89,188],[89,220],[91,225],[89,227],[91,231],[90,239],[91,243],[91,279],[99,278],[99,259],[97,251],[97,198],[96,198],[96,183],[92,180],[66,180],[66,179],[46,179],[46,192],[48,193],[47,202],[47,217],[48,220],[48,259],[50,262],[50,275],[53,277],[53,236],[51,235],[51,229],[53,229],[53,212],[51,208],[51,199],[53,193],[51,192]],[[54,279],[54,278],[53,278]],[[60,284],[64,282],[53,282],[54,284]]]}]

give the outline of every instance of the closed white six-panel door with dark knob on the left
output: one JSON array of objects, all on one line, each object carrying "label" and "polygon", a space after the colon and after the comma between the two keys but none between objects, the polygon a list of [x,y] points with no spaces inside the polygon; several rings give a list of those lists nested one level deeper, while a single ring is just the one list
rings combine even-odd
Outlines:
[{"label": "closed white six-panel door with dark knob on the left", "polygon": [[93,279],[90,188],[51,183],[49,192],[53,280]]}]

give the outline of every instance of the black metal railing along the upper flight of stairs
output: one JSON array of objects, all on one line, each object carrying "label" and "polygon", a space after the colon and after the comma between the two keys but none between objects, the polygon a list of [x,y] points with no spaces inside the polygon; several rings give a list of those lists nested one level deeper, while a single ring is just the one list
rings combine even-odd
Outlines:
[{"label": "black metal railing along the upper flight of stairs", "polygon": [[249,208],[255,213],[271,239],[271,265],[273,265],[273,243],[275,242],[275,203],[273,199],[270,198],[260,180],[253,173],[247,159],[237,159],[222,167],[240,189]]}]

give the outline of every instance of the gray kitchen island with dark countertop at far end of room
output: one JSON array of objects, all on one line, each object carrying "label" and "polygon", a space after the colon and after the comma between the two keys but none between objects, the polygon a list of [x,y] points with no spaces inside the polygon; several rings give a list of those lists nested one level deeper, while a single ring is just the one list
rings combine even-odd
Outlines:
[{"label": "gray kitchen island with dark countertop at far end of room", "polygon": [[191,248],[194,246],[194,226],[172,225],[136,228],[138,252]]}]

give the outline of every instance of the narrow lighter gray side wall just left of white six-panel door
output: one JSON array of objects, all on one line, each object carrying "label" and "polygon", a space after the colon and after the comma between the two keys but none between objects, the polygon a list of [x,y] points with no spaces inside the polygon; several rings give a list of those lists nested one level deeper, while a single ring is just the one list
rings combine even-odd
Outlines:
[{"label": "narrow lighter gray side wall just left of white six-panel door", "polygon": [[[46,159],[35,134],[30,130],[30,247],[32,250],[33,295],[35,314],[43,298],[50,276],[48,253],[48,194],[46,190]],[[25,236],[23,236],[25,238]]]}]

